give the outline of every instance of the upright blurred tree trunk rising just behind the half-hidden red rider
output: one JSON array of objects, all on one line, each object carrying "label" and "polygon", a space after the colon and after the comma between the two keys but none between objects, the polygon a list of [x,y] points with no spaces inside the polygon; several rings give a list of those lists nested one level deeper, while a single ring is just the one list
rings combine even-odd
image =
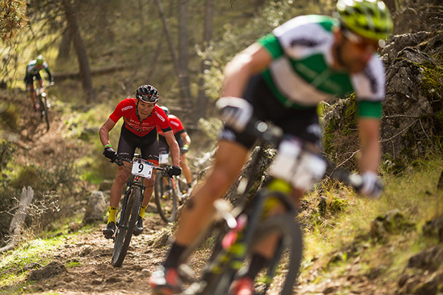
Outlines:
[{"label": "upright blurred tree trunk rising just behind the half-hidden red rider", "polygon": [[[188,0],[179,0],[179,75],[182,84],[182,93],[184,97],[182,97],[182,102],[186,109],[191,111],[192,101],[191,101],[191,92],[190,92],[190,82],[189,82],[189,33],[188,33]],[[191,112],[191,115],[195,114]]]}]

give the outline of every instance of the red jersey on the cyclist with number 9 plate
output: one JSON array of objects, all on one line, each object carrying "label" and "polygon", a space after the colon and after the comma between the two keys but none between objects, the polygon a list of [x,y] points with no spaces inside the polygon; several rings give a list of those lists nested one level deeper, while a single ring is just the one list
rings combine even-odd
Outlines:
[{"label": "red jersey on the cyclist with number 9 plate", "polygon": [[171,130],[166,114],[157,105],[146,119],[140,121],[136,113],[136,99],[128,98],[120,101],[109,119],[116,123],[121,117],[124,119],[124,127],[136,136],[145,136],[157,126],[163,132]]}]

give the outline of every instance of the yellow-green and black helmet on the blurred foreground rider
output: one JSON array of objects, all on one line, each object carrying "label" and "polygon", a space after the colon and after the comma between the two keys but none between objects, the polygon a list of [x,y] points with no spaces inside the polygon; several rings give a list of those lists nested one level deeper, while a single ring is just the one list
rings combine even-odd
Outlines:
[{"label": "yellow-green and black helmet on the blurred foreground rider", "polygon": [[392,33],[392,18],[379,0],[338,0],[337,11],[342,25],[360,36],[381,40]]}]

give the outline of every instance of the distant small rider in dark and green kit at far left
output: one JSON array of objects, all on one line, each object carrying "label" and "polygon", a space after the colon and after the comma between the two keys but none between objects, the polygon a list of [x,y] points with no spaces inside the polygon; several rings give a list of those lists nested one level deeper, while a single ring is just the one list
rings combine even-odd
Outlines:
[{"label": "distant small rider in dark and green kit at far left", "polygon": [[34,79],[37,80],[39,87],[43,87],[43,79],[40,76],[40,70],[44,69],[48,74],[49,81],[51,86],[54,85],[54,77],[49,71],[49,66],[44,61],[43,56],[40,54],[36,59],[29,61],[29,64],[26,66],[26,74],[24,76],[24,84],[26,85],[26,90],[29,90],[29,94],[31,95],[32,104],[34,105],[34,109],[37,111],[39,109],[39,105],[36,104],[36,94],[34,90]]}]

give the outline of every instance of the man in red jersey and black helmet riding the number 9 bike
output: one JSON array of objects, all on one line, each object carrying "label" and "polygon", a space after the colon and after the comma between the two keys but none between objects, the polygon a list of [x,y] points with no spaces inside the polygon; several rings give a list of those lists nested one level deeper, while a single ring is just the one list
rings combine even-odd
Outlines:
[{"label": "man in red jersey and black helmet riding the number 9 bike", "polygon": [[[179,167],[179,145],[172,133],[169,121],[164,111],[156,105],[159,101],[159,91],[154,86],[144,84],[136,90],[136,98],[128,98],[120,101],[109,119],[101,126],[99,135],[101,144],[104,146],[104,156],[115,161],[117,156],[124,159],[132,159],[135,149],[138,147],[141,151],[141,157],[154,165],[159,164],[159,144],[157,141],[157,128],[164,133],[167,144],[171,148],[172,167],[169,175],[180,175]],[[114,128],[119,119],[123,117],[124,124],[121,126],[119,147],[117,151],[111,148],[109,144],[109,131]],[[129,177],[129,174],[119,166],[117,174],[111,187],[111,201],[109,206],[109,218],[103,229],[105,236],[112,236],[116,230],[116,209],[121,199],[121,191]],[[140,234],[143,231],[143,216],[146,207],[151,199],[154,189],[155,175],[151,179],[144,179],[144,198],[141,204],[139,218],[136,222],[134,234]]]}]

